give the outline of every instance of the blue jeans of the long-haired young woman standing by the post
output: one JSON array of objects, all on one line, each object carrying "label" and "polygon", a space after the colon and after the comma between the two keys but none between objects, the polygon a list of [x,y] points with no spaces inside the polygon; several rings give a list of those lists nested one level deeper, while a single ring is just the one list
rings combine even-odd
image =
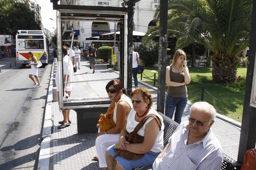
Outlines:
[{"label": "blue jeans of the long-haired young woman standing by the post", "polygon": [[181,123],[181,118],[183,116],[184,109],[187,105],[187,97],[186,98],[175,98],[175,97],[166,97],[166,105],[165,105],[165,115],[169,118],[173,117],[176,123]]}]

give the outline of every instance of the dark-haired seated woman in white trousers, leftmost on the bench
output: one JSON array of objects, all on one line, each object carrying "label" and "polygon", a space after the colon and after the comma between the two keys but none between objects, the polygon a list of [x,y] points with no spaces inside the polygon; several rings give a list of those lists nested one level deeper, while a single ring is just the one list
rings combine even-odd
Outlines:
[{"label": "dark-haired seated woman in white trousers, leftmost on the bench", "polygon": [[[105,132],[98,133],[96,138],[95,147],[96,153],[98,156],[95,156],[94,159],[99,160],[99,167],[107,167],[105,161],[105,152],[106,149],[116,142],[119,139],[119,134],[125,125],[125,118],[133,108],[131,103],[131,98],[127,96],[127,91],[123,88],[120,80],[111,80],[106,85],[106,91],[108,97],[112,100],[110,106],[108,107],[108,113],[113,113],[113,120],[116,124],[112,129],[106,130]],[[98,126],[98,125],[97,125]]]}]

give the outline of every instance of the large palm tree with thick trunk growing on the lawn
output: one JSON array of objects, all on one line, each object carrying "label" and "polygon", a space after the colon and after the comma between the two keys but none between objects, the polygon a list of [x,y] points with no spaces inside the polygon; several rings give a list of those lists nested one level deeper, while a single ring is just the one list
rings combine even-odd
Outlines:
[{"label": "large palm tree with thick trunk growing on the lawn", "polygon": [[[168,8],[180,13],[168,20],[168,32],[178,37],[177,46],[204,45],[213,52],[214,82],[234,82],[239,55],[249,45],[252,0],[169,0]],[[157,34],[157,28],[148,34]]]}]

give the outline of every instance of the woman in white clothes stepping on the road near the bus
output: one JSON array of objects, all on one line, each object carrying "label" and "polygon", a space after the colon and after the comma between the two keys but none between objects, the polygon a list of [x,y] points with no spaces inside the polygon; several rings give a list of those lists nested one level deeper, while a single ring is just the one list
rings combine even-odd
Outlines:
[{"label": "woman in white clothes stepping on the road near the bus", "polygon": [[[38,77],[38,68],[35,67],[38,64],[37,58],[36,58],[36,56],[34,56],[34,54],[32,52],[28,52],[28,56],[30,56],[31,62],[30,62],[30,64],[27,64],[26,67],[31,67],[30,79],[33,80],[33,82],[34,82],[33,87],[42,87],[39,77]],[[36,80],[34,79],[33,76],[36,78]]]}]

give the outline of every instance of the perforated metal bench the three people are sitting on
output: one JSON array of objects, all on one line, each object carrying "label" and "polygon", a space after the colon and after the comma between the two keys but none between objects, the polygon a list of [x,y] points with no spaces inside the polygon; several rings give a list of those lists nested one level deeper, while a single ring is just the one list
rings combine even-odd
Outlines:
[{"label": "perforated metal bench the three people are sitting on", "polygon": [[[161,112],[158,112],[162,117],[164,121],[164,147],[168,144],[170,136],[172,136],[172,133],[175,131],[175,129],[178,127],[178,123],[167,117],[166,115],[162,114]],[[222,167],[220,170],[234,170],[234,169],[240,169],[241,164],[236,162],[236,160],[233,160],[231,157],[223,153],[223,162]],[[134,168],[134,170],[147,170],[152,169],[152,165],[146,165],[139,168]]]}]

